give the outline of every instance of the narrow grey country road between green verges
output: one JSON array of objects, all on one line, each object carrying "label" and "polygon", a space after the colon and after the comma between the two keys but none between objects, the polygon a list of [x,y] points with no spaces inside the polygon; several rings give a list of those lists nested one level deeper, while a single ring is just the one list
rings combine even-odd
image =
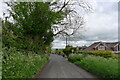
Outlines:
[{"label": "narrow grey country road between green verges", "polygon": [[39,78],[96,78],[92,74],[67,61],[62,56],[51,54],[50,62],[43,68]]}]

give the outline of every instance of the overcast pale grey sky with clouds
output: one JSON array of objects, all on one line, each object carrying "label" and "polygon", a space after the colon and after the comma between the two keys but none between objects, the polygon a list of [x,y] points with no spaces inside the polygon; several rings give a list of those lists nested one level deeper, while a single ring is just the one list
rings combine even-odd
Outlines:
[{"label": "overcast pale grey sky with clouds", "polygon": [[[72,46],[89,46],[93,42],[118,41],[118,1],[119,0],[86,0],[93,7],[92,13],[84,14],[85,31],[82,34],[68,38],[68,44]],[[0,2],[0,17],[6,6]],[[64,48],[65,38],[56,38],[52,48]]]}]

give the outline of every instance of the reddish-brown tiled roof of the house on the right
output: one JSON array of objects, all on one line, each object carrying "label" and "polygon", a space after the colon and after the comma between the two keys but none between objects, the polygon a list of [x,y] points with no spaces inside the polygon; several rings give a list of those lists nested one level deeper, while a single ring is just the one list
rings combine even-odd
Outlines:
[{"label": "reddish-brown tiled roof of the house on the right", "polygon": [[96,42],[84,49],[84,51],[94,51],[94,48],[99,46],[100,44],[103,44],[105,47],[107,47],[107,50],[112,50],[113,47],[115,47],[120,42]]}]

